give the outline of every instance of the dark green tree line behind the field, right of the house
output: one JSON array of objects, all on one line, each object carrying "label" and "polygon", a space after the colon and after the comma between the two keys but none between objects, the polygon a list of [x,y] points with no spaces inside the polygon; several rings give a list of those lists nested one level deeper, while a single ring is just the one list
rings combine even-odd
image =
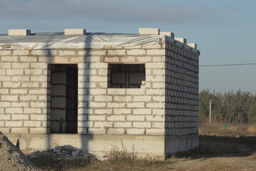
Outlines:
[{"label": "dark green tree line behind the field, right of the house", "polygon": [[209,117],[209,101],[212,100],[212,120],[227,123],[256,123],[256,95],[250,92],[229,91],[199,93],[199,116],[203,121]]}]

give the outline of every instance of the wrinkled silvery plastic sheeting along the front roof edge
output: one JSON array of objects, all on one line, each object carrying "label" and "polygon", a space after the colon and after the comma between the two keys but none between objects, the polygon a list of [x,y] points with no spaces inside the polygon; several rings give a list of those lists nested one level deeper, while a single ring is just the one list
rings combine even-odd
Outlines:
[{"label": "wrinkled silvery plastic sheeting along the front roof edge", "polygon": [[86,33],[81,36],[64,36],[63,33],[34,33],[34,36],[0,35],[0,46],[11,45],[9,49],[49,48],[103,48],[103,46],[137,46],[158,44],[164,35],[138,35],[116,33]]}]

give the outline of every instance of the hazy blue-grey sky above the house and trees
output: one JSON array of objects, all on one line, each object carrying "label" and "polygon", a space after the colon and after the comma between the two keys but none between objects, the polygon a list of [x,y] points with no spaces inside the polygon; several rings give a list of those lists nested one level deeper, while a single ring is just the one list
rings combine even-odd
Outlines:
[{"label": "hazy blue-grey sky above the house and trees", "polygon": [[[0,34],[86,28],[138,33],[160,28],[197,43],[200,66],[256,63],[255,0],[0,0]],[[256,92],[256,65],[200,67],[199,90]]]}]

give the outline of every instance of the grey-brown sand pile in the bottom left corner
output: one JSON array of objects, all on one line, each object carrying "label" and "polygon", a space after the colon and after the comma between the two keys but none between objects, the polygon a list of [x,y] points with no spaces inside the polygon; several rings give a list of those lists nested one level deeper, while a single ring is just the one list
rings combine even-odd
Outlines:
[{"label": "grey-brown sand pile in the bottom left corner", "polygon": [[0,132],[0,170],[39,170]]}]

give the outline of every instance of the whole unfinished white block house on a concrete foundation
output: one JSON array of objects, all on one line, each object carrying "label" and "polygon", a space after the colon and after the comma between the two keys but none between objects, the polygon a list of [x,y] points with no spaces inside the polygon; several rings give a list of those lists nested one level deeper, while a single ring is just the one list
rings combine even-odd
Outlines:
[{"label": "whole unfinished white block house on a concrete foundation", "polygon": [[198,147],[195,43],[158,28],[139,34],[0,35],[0,131],[21,150],[125,145],[159,155]]}]

